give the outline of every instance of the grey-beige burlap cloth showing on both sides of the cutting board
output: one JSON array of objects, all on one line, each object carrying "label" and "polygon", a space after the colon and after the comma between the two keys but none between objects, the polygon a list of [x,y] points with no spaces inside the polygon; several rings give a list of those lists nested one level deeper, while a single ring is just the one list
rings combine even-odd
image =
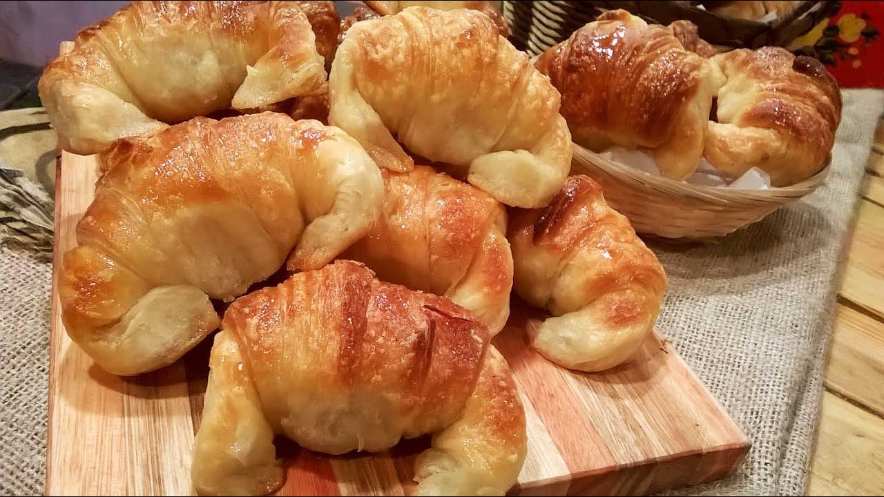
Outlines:
[{"label": "grey-beige burlap cloth showing on both sides of the cutting board", "polygon": [[[832,172],[813,195],[713,245],[651,243],[669,274],[660,332],[752,440],[735,476],[680,493],[804,493],[837,271],[882,109],[882,91],[844,91]],[[0,130],[21,119],[0,113]],[[52,137],[18,138],[42,150],[10,150],[5,139],[4,167],[48,183],[34,157]],[[9,203],[0,209],[9,222]],[[51,268],[33,250],[4,247],[0,257],[0,493],[42,493]]]}]

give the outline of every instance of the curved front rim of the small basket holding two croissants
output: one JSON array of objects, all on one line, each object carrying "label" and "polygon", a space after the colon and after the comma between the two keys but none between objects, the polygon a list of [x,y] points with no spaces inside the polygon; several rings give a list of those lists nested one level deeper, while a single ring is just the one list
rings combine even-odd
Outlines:
[{"label": "curved front rim of the small basket holding two croissants", "polygon": [[807,180],[789,187],[722,188],[709,187],[671,180],[663,176],[653,176],[629,165],[621,164],[604,157],[578,144],[574,144],[574,162],[586,167],[589,163],[614,178],[631,183],[635,187],[652,188],[667,195],[680,196],[717,205],[758,205],[760,203],[781,204],[810,194],[826,180],[830,164],[827,163]]}]

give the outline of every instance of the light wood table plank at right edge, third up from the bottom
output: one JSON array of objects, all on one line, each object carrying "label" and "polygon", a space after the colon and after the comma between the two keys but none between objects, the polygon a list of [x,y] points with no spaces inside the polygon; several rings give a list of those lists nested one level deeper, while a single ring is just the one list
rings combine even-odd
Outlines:
[{"label": "light wood table plank at right edge, third up from the bottom", "polygon": [[884,207],[860,201],[841,294],[884,318]]}]

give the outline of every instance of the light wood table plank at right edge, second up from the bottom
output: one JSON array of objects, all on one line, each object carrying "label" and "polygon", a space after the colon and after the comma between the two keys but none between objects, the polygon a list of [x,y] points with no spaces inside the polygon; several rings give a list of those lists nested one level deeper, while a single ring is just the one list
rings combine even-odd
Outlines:
[{"label": "light wood table plank at right edge, second up from the bottom", "polygon": [[826,386],[884,416],[884,323],[838,305]]}]

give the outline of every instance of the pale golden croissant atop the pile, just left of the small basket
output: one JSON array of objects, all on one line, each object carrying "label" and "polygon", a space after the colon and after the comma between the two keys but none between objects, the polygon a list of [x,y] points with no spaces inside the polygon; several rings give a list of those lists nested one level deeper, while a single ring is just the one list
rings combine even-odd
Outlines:
[{"label": "pale golden croissant atop the pile, just left of the small basket", "polygon": [[408,171],[411,152],[501,203],[540,207],[568,175],[559,93],[487,16],[412,7],[354,24],[329,76],[329,121],[375,162]]}]

